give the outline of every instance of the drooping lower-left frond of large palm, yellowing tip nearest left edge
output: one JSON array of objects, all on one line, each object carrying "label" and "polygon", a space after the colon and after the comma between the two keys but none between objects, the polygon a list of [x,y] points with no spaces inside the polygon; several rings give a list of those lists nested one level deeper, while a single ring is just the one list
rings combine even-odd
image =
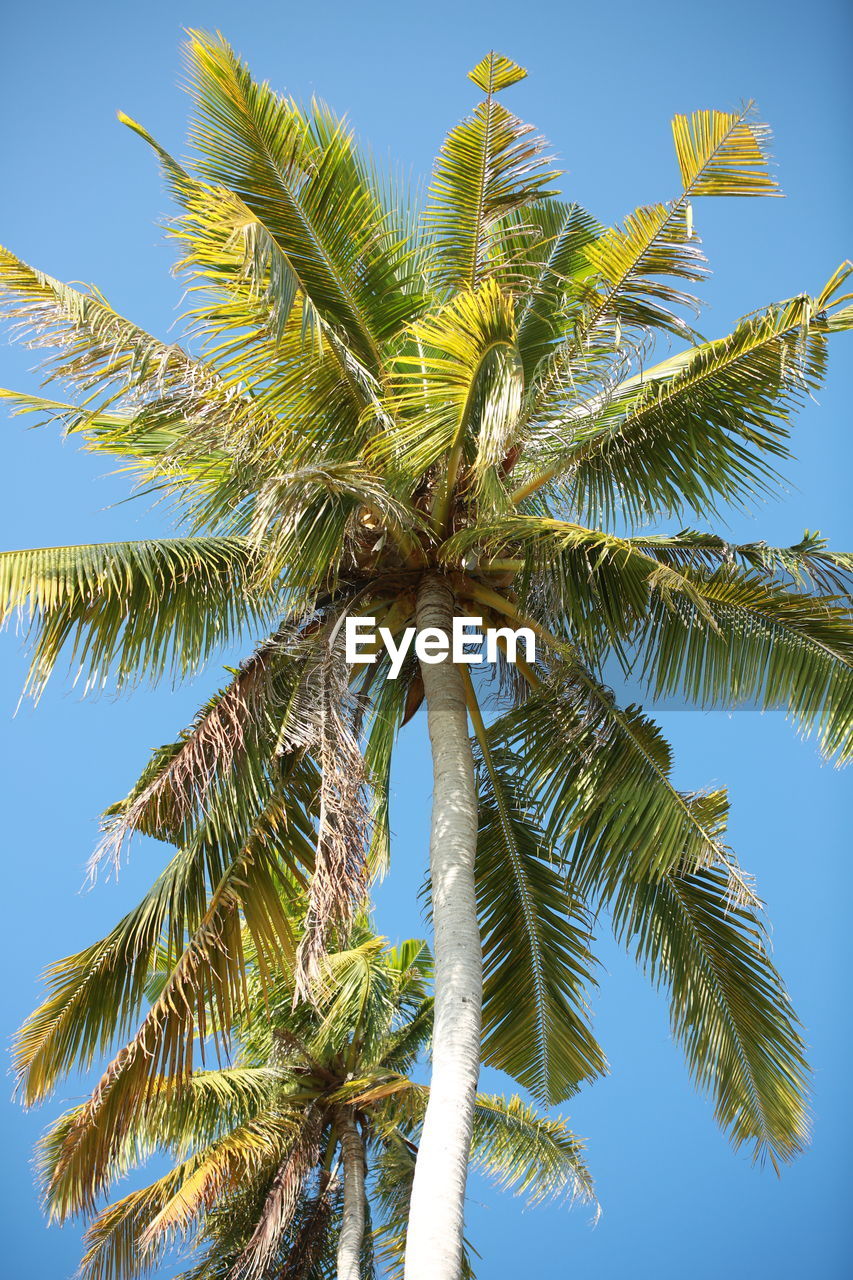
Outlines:
[{"label": "drooping lower-left frond of large palm, yellowing tip nearest left edge", "polygon": [[[246,771],[242,773],[245,778]],[[236,928],[232,908],[238,901],[246,902],[248,913],[259,911],[256,919],[247,915],[247,923],[261,943],[274,924],[274,946],[293,955],[293,924],[282,916],[277,895],[286,891],[292,899],[313,868],[315,829],[310,814],[315,795],[316,774],[305,760],[295,762],[283,781],[256,778],[256,791],[243,786],[238,792],[207,794],[204,817],[187,831],[186,844],[138,906],[102,940],[47,970],[47,997],[24,1023],[15,1047],[24,1102],[45,1098],[76,1065],[91,1068],[132,1033],[152,966],[165,968],[168,986],[187,938],[197,940],[192,952],[197,960],[204,955],[200,943],[215,956],[219,943],[211,922],[224,913]],[[232,963],[238,964],[241,955],[238,946]],[[211,982],[219,1007],[218,980],[204,968],[199,970],[201,1010],[202,992]]]}]

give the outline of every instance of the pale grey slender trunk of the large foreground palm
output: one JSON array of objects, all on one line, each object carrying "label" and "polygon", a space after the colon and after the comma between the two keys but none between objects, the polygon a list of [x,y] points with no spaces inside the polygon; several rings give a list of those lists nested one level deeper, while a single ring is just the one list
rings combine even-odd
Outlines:
[{"label": "pale grey slender trunk of the large foreground palm", "polygon": [[[452,617],[448,584],[424,579],[418,594],[419,630],[438,627],[450,640]],[[409,1213],[406,1280],[459,1280],[483,1004],[474,891],[476,788],[461,673],[450,658],[421,663],[421,672],[433,750],[429,868],[435,1023],[429,1103]]]}]

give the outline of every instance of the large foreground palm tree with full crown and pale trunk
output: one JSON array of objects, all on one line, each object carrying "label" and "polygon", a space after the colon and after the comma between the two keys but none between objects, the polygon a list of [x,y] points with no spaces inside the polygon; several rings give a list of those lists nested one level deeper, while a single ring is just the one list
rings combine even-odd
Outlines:
[{"label": "large foreground palm tree with full crown and pale trunk", "polygon": [[[735,1144],[788,1160],[803,1046],[725,792],[679,791],[660,728],[603,677],[615,660],[654,694],[783,708],[849,756],[850,557],[812,534],[774,548],[683,527],[777,484],[794,411],[853,323],[849,265],[727,337],[685,320],[706,271],[694,205],[777,195],[751,109],[676,116],[679,192],[605,228],[552,193],[543,141],[501,99],[525,72],[497,54],[470,73],[484,97],[423,210],[321,104],[256,83],[219,38],[187,56],[192,161],[126,120],[179,209],[187,346],[0,257],[6,311],[77,397],[10,407],[124,458],[182,536],[6,553],[3,600],[29,612],[36,691],[61,652],[88,684],[126,685],[265,639],[108,815],[114,854],[134,831],[178,854],[54,966],[19,1043],[24,1096],[131,1033],[165,937],[164,996],[78,1120],[96,1194],[147,1082],[178,1088],[197,1030],[245,1007],[241,922],[268,966],[298,946],[310,993],[328,931],[387,863],[393,745],[425,701],[435,1029],[407,1280],[460,1272],[480,1057],[548,1102],[603,1070],[585,996],[599,908],[669,988]],[[671,338],[683,351],[661,361]],[[347,617],[400,637],[465,616],[538,643],[535,662],[496,662],[489,724],[462,664],[409,655],[391,680],[384,650],[345,662]],[[305,881],[297,943],[280,895]]]}]

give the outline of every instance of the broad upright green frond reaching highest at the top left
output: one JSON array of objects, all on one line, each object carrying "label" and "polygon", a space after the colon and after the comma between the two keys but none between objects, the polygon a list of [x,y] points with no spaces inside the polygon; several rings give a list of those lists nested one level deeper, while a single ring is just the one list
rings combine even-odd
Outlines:
[{"label": "broad upright green frond reaching highest at the top left", "polygon": [[224,41],[195,33],[188,67],[199,172],[255,214],[300,288],[371,372],[379,343],[418,308],[384,241],[386,214],[356,163],[352,136],[252,81]]}]

